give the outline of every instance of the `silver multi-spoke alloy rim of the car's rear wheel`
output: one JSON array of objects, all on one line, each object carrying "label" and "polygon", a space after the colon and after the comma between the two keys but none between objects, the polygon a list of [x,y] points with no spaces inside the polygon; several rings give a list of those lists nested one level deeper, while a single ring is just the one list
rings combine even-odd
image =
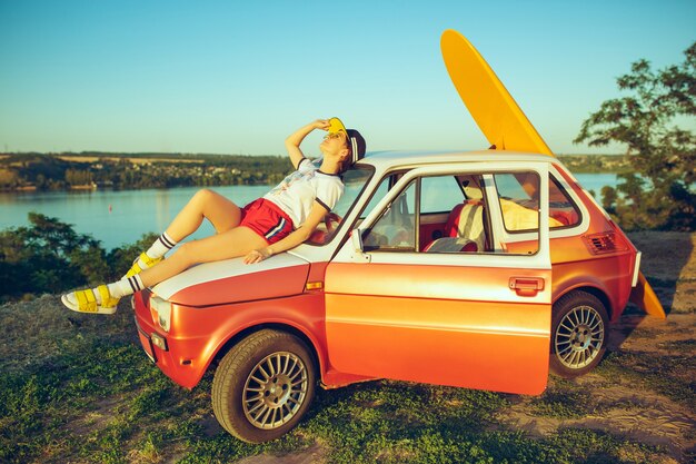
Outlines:
[{"label": "silver multi-spoke alloy rim of the car's rear wheel", "polygon": [[566,367],[579,369],[591,363],[604,344],[604,323],[591,306],[573,308],[558,324],[554,345],[558,361]]}]

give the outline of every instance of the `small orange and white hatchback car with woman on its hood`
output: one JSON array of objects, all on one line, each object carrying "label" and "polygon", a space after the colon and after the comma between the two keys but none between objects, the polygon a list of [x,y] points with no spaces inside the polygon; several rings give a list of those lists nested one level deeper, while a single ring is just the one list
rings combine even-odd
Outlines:
[{"label": "small orange and white hatchback car with woman on its hood", "polygon": [[632,292],[664,313],[640,254],[568,170],[505,141],[368,154],[310,241],[135,295],[145,351],[188,388],[215,366],[215,414],[252,443],[294,427],[318,382],[540,394],[549,365],[586,373]]}]

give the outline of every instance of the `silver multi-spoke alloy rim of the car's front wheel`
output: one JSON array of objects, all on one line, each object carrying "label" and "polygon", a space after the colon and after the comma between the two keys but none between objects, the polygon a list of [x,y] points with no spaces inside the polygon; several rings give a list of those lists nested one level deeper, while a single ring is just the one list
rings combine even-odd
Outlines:
[{"label": "silver multi-spoke alloy rim of the car's front wheel", "polygon": [[307,367],[292,353],[272,353],[247,377],[242,404],[253,426],[272,430],[290,421],[307,395]]}]

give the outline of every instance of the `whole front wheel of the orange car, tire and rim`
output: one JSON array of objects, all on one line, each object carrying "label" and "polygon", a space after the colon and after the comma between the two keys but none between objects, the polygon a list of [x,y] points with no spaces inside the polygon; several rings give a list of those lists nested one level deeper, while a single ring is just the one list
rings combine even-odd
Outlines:
[{"label": "whole front wheel of the orange car, tire and rim", "polygon": [[315,393],[316,368],[305,343],[264,329],[232,347],[212,379],[220,425],[248,443],[276,440],[297,425]]}]

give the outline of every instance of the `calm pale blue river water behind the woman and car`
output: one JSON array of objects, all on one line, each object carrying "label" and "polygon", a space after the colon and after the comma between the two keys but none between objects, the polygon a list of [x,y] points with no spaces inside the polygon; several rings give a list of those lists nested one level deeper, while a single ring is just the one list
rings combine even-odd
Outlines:
[{"label": "calm pale blue river water behind the woman and car", "polygon": [[[580,174],[576,178],[587,190],[599,195],[601,187],[616,187],[615,174]],[[56,217],[73,225],[78,234],[90,234],[106,249],[132,244],[148,231],[161,233],[199,187],[151,190],[95,190],[0,192],[0,229],[29,225],[30,211]],[[237,205],[264,196],[270,186],[212,187]],[[215,233],[208,221],[192,238]]]}]

